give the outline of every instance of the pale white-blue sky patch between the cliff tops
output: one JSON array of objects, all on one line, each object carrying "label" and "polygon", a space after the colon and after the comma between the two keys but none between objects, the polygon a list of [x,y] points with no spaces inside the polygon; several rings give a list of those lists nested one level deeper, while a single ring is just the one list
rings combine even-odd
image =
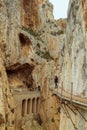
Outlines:
[{"label": "pale white-blue sky patch between the cliff tops", "polygon": [[69,0],[49,0],[53,6],[53,14],[55,19],[66,18]]}]

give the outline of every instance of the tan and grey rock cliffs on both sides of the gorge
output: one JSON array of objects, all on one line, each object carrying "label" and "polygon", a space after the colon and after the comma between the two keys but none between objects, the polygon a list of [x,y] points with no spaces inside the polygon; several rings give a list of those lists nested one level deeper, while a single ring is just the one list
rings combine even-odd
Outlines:
[{"label": "tan and grey rock cliffs on both sides of the gorge", "polygon": [[[48,0],[0,1],[0,130],[87,129],[81,116],[86,118],[87,111],[78,108],[75,116],[68,107],[73,124],[52,91],[57,75],[59,89],[71,93],[73,85],[74,95],[87,97],[86,3],[70,0],[68,18],[54,20]],[[18,96],[22,91],[27,98],[27,92],[34,94],[37,86],[39,114],[24,115],[26,100],[20,102],[23,95],[15,100],[13,92]],[[29,103],[27,99],[27,114]]]}]

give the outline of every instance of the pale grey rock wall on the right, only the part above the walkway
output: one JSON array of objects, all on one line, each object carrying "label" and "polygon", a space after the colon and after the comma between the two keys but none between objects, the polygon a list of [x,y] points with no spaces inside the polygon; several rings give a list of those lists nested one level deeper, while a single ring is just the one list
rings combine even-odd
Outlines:
[{"label": "pale grey rock wall on the right, only the part above the walkway", "polygon": [[84,4],[83,6],[83,1],[76,2],[73,0],[69,5],[63,83],[64,88],[69,90],[71,89],[71,83],[73,83],[73,93],[86,97],[87,47],[86,20],[84,18],[86,1]]}]

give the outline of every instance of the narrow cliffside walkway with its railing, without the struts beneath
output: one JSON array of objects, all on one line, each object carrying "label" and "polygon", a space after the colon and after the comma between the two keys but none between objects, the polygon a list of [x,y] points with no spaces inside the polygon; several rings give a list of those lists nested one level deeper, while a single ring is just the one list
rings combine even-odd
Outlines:
[{"label": "narrow cliffside walkway with its railing, without the struts beneath", "polygon": [[[81,84],[80,84],[81,85]],[[80,106],[87,107],[87,98],[80,96],[80,94],[74,94],[73,91],[73,83],[70,85],[70,89],[64,89],[63,85],[62,87],[58,87],[57,90],[53,89],[54,93],[59,96],[61,99],[65,99],[67,101],[70,101],[71,103],[76,103]]]}]

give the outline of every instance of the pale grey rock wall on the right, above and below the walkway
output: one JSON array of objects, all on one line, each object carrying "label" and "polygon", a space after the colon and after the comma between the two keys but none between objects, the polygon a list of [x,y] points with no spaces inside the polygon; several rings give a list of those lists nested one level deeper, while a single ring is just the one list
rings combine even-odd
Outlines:
[{"label": "pale grey rock wall on the right, above and below the walkway", "polygon": [[[86,0],[70,0],[61,77],[63,89],[81,98],[87,97],[86,10]],[[71,123],[62,110],[59,130],[86,130],[87,125],[83,117],[87,118],[87,111],[79,109],[83,115],[82,117],[78,113],[75,116],[69,108],[67,109],[73,123]]]}]

